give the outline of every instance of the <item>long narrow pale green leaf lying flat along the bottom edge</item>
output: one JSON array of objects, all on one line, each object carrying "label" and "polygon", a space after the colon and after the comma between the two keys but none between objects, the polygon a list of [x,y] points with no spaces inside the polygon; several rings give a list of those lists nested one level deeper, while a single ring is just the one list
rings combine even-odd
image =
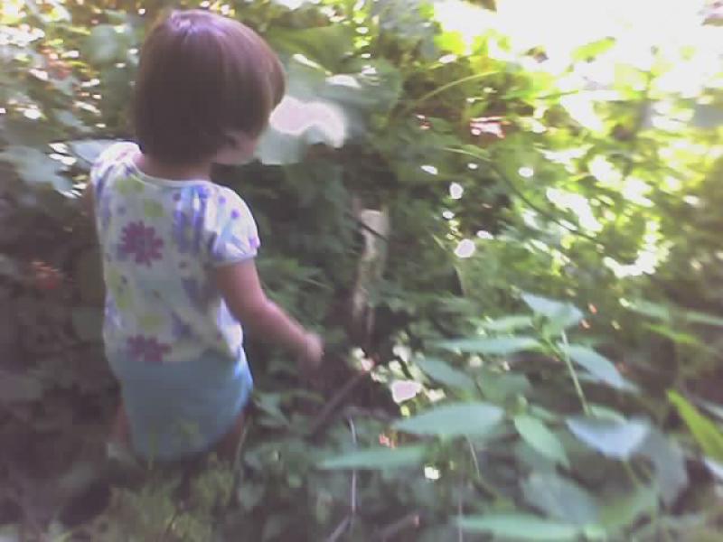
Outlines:
[{"label": "long narrow pale green leaf lying flat along the bottom edge", "polygon": [[531,542],[566,542],[577,540],[580,529],[559,521],[542,519],[530,514],[485,514],[467,516],[457,524],[466,531],[488,533],[508,540]]}]

